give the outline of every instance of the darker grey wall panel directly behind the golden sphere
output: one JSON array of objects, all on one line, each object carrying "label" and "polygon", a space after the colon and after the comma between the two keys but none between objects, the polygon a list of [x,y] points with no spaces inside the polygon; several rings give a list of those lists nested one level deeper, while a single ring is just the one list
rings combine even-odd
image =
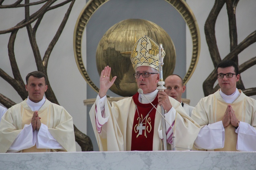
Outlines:
[{"label": "darker grey wall panel directly behind the golden sphere", "polygon": [[[176,9],[166,1],[155,0],[110,0],[103,4],[90,18],[86,26],[86,67],[90,79],[99,88],[99,74],[96,68],[96,49],[104,33],[114,24],[125,19],[145,19],[162,27],[172,38],[176,50],[175,74],[186,74],[186,23]],[[82,44],[82,47],[85,46]],[[85,61],[85,60],[84,60]],[[131,63],[127,63],[131,64]],[[117,95],[108,91],[108,95]],[[96,98],[97,93],[87,85],[87,99]],[[183,95],[186,98],[186,94]],[[96,138],[89,119],[87,107],[87,135],[98,151]]]}]

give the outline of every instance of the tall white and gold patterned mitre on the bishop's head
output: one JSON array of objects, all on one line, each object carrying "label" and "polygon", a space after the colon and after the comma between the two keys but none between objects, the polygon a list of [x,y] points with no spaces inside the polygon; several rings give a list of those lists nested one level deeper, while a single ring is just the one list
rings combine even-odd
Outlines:
[{"label": "tall white and gold patterned mitre on the bishop's head", "polygon": [[[165,55],[165,51],[163,54]],[[159,45],[144,35],[132,48],[130,59],[134,70],[139,66],[149,66],[159,71]]]}]

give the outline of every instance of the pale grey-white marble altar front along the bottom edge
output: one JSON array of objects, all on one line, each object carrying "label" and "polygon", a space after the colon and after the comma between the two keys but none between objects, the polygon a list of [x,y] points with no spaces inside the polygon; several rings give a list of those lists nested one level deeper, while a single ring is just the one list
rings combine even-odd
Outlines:
[{"label": "pale grey-white marble altar front along the bottom edge", "polygon": [[0,169],[256,169],[256,152],[3,153]]}]

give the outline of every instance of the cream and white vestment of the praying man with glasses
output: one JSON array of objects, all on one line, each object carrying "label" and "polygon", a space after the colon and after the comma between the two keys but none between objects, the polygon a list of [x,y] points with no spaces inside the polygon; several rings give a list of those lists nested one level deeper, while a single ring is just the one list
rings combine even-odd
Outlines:
[{"label": "cream and white vestment of the praying man with glasses", "polygon": [[[239,90],[241,95],[232,103],[226,103],[219,91],[202,98],[192,112],[191,118],[201,126],[195,147],[214,151],[256,151],[256,100]],[[224,129],[222,118],[228,104],[240,121],[237,129],[231,124]]]}]

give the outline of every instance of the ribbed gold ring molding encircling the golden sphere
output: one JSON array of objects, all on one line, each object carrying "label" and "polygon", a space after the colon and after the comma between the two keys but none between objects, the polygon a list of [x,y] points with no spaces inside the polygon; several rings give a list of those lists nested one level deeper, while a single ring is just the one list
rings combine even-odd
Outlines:
[{"label": "ribbed gold ring molding encircling the golden sphere", "polygon": [[[73,48],[74,56],[77,67],[79,68],[80,73],[84,77],[85,81],[93,88],[96,92],[99,92],[99,88],[90,80],[89,75],[84,67],[83,58],[82,58],[82,37],[86,24],[88,23],[90,17],[93,13],[105,2],[109,0],[90,0],[87,2],[83,10],[81,11],[79,17],[77,18],[75,29],[74,29],[74,39],[73,39]],[[188,25],[190,30],[193,51],[192,59],[188,71],[183,79],[184,84],[188,82],[191,78],[193,72],[196,69],[198,63],[199,54],[200,54],[200,33],[199,27],[196,21],[196,18],[189,8],[188,4],[184,0],[165,0],[170,3],[183,17],[185,22]]]}]

